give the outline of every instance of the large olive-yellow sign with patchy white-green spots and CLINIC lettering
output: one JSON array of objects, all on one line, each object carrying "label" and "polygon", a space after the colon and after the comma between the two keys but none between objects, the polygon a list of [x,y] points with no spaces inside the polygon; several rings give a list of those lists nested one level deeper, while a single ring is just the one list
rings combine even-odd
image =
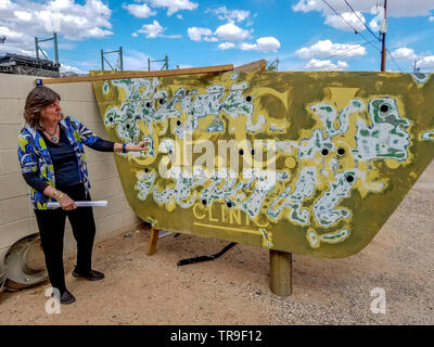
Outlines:
[{"label": "large olive-yellow sign with patchy white-green spots and CLINIC lettering", "polygon": [[326,258],[379,232],[434,156],[434,77],[225,73],[93,82],[156,229]]}]

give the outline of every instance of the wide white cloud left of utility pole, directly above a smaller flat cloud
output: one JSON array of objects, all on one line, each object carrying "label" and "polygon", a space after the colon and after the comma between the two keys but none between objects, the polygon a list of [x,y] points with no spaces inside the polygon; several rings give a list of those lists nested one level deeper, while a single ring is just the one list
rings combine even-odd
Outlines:
[{"label": "wide white cloud left of utility pole, directly above a smaller flat cloud", "polygon": [[309,48],[302,48],[295,52],[299,59],[308,60],[312,57],[329,57],[339,55],[342,57],[357,57],[366,55],[365,47],[360,44],[347,44],[347,43],[333,43],[331,40],[320,40]]}]

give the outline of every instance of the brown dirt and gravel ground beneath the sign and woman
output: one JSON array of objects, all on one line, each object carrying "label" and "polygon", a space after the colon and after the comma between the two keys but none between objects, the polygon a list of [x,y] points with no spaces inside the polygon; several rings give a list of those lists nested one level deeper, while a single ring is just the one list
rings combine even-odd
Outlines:
[{"label": "brown dirt and gravel ground beneath the sign and woman", "polygon": [[[146,256],[148,231],[95,245],[93,268],[106,278],[72,277],[76,296],[60,314],[46,312],[48,282],[0,294],[0,324],[434,324],[434,164],[374,240],[345,259],[293,255],[293,295],[269,290],[268,252],[237,245],[220,258],[178,267],[215,254],[228,243],[174,234]],[[386,312],[373,313],[371,291],[385,291]]]}]

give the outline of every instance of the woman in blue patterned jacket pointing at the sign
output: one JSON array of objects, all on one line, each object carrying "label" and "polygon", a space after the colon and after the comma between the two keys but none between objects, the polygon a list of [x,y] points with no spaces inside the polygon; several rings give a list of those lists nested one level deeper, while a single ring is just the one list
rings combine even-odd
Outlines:
[{"label": "woman in blue patterned jacket pointing at the sign", "polygon": [[[77,242],[75,278],[98,281],[102,272],[92,270],[95,224],[91,207],[77,208],[75,201],[90,201],[89,178],[82,144],[101,152],[144,151],[144,142],[120,144],[100,139],[73,117],[64,117],[61,97],[48,87],[34,88],[26,99],[26,126],[18,137],[18,158],[25,181],[31,188],[31,203],[38,222],[46,265],[60,301],[75,297],[65,284],[63,239],[68,217]],[[59,202],[61,208],[47,208]]]}]

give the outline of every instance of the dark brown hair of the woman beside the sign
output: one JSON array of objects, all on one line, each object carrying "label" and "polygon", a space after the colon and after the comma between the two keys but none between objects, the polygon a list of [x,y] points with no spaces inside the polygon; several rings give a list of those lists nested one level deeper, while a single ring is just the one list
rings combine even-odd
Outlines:
[{"label": "dark brown hair of the woman beside the sign", "polygon": [[[61,100],[54,90],[46,86],[35,87],[26,98],[24,106],[24,119],[33,128],[41,129],[40,116],[43,108],[51,105],[56,100]],[[63,117],[63,115],[62,115]]]}]

